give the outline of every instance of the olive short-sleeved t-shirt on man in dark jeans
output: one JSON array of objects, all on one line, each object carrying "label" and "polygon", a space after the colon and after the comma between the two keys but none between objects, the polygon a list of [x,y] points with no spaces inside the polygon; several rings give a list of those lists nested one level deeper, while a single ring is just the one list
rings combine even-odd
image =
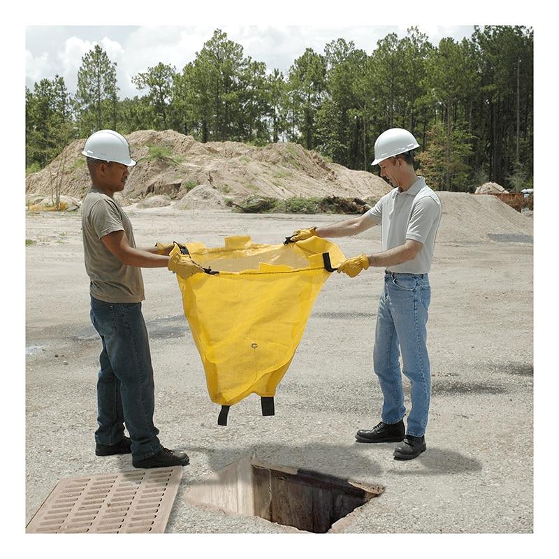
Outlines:
[{"label": "olive short-sleeved t-shirt on man in dark jeans", "polygon": [[103,191],[91,187],[82,202],[82,237],[89,292],[107,303],[139,303],[145,299],[142,273],[126,266],[105,246],[102,237],[124,231],[136,247],[132,224],[124,210]]}]

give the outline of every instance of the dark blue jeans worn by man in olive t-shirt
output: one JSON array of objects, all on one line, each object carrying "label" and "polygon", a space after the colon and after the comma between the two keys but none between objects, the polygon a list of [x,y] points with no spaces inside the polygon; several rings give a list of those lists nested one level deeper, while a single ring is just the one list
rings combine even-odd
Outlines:
[{"label": "dark blue jeans worn by man in olive t-shirt", "polygon": [[161,450],[153,424],[155,405],[150,342],[142,303],[106,303],[92,297],[91,319],[101,336],[97,379],[95,441],[117,444],[130,433],[132,456],[147,458]]}]

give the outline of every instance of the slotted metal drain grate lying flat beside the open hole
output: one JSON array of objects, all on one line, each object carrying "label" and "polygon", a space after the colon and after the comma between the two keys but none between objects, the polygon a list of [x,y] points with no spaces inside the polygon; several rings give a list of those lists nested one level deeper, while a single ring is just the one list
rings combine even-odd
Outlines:
[{"label": "slotted metal drain grate lying flat beside the open hole", "polygon": [[165,532],[182,466],[61,479],[28,533]]}]

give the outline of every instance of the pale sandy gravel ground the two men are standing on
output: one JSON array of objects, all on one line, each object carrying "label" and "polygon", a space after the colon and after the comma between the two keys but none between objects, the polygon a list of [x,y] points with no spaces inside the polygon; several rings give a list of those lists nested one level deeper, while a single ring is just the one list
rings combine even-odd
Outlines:
[{"label": "pale sandy gravel ground the two men are standing on", "polygon": [[[138,245],[233,234],[282,242],[293,229],[342,216],[177,212],[130,214]],[[527,218],[528,219],[528,218]],[[393,460],[394,444],[358,444],[379,421],[382,396],[372,340],[382,270],[334,274],[262,417],[256,395],[217,426],[200,358],[167,270],[144,270],[143,304],[156,382],[161,442],[191,464],[168,532],[285,532],[261,518],[186,504],[184,488],[253,450],[272,463],[381,484],[345,532],[532,532],[532,242],[502,235],[483,242],[438,238],[430,273],[429,347],[433,398],[428,449]],[[26,522],[65,477],[132,470],[129,456],[94,456],[99,338],[89,323],[80,216],[27,215]],[[497,240],[495,240],[497,239]],[[514,240],[516,242],[511,242]],[[347,256],[379,249],[379,231],[340,239]],[[405,382],[407,398],[409,385]]]}]

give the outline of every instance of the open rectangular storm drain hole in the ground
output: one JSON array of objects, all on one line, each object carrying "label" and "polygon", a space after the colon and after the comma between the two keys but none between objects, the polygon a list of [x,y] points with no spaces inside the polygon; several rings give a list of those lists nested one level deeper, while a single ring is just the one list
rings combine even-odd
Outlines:
[{"label": "open rectangular storm drain hole in the ground", "polygon": [[247,456],[189,486],[184,500],[324,533],[341,530],[351,521],[351,512],[382,491],[382,486],[270,465],[256,456]]}]

